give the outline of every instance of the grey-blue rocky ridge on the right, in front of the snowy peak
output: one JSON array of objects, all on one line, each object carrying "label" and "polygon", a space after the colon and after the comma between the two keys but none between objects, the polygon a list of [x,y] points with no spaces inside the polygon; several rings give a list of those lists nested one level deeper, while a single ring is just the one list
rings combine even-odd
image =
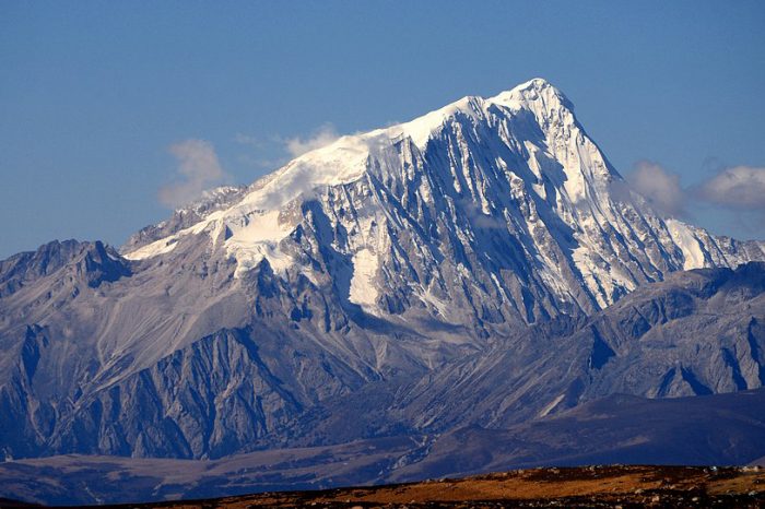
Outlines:
[{"label": "grey-blue rocky ridge on the right, in front of the snowy peak", "polygon": [[411,383],[378,382],[329,400],[292,435],[316,445],[388,429],[505,428],[613,393],[756,389],[765,383],[763,323],[765,263],[673,273],[591,317],[518,329]]}]

